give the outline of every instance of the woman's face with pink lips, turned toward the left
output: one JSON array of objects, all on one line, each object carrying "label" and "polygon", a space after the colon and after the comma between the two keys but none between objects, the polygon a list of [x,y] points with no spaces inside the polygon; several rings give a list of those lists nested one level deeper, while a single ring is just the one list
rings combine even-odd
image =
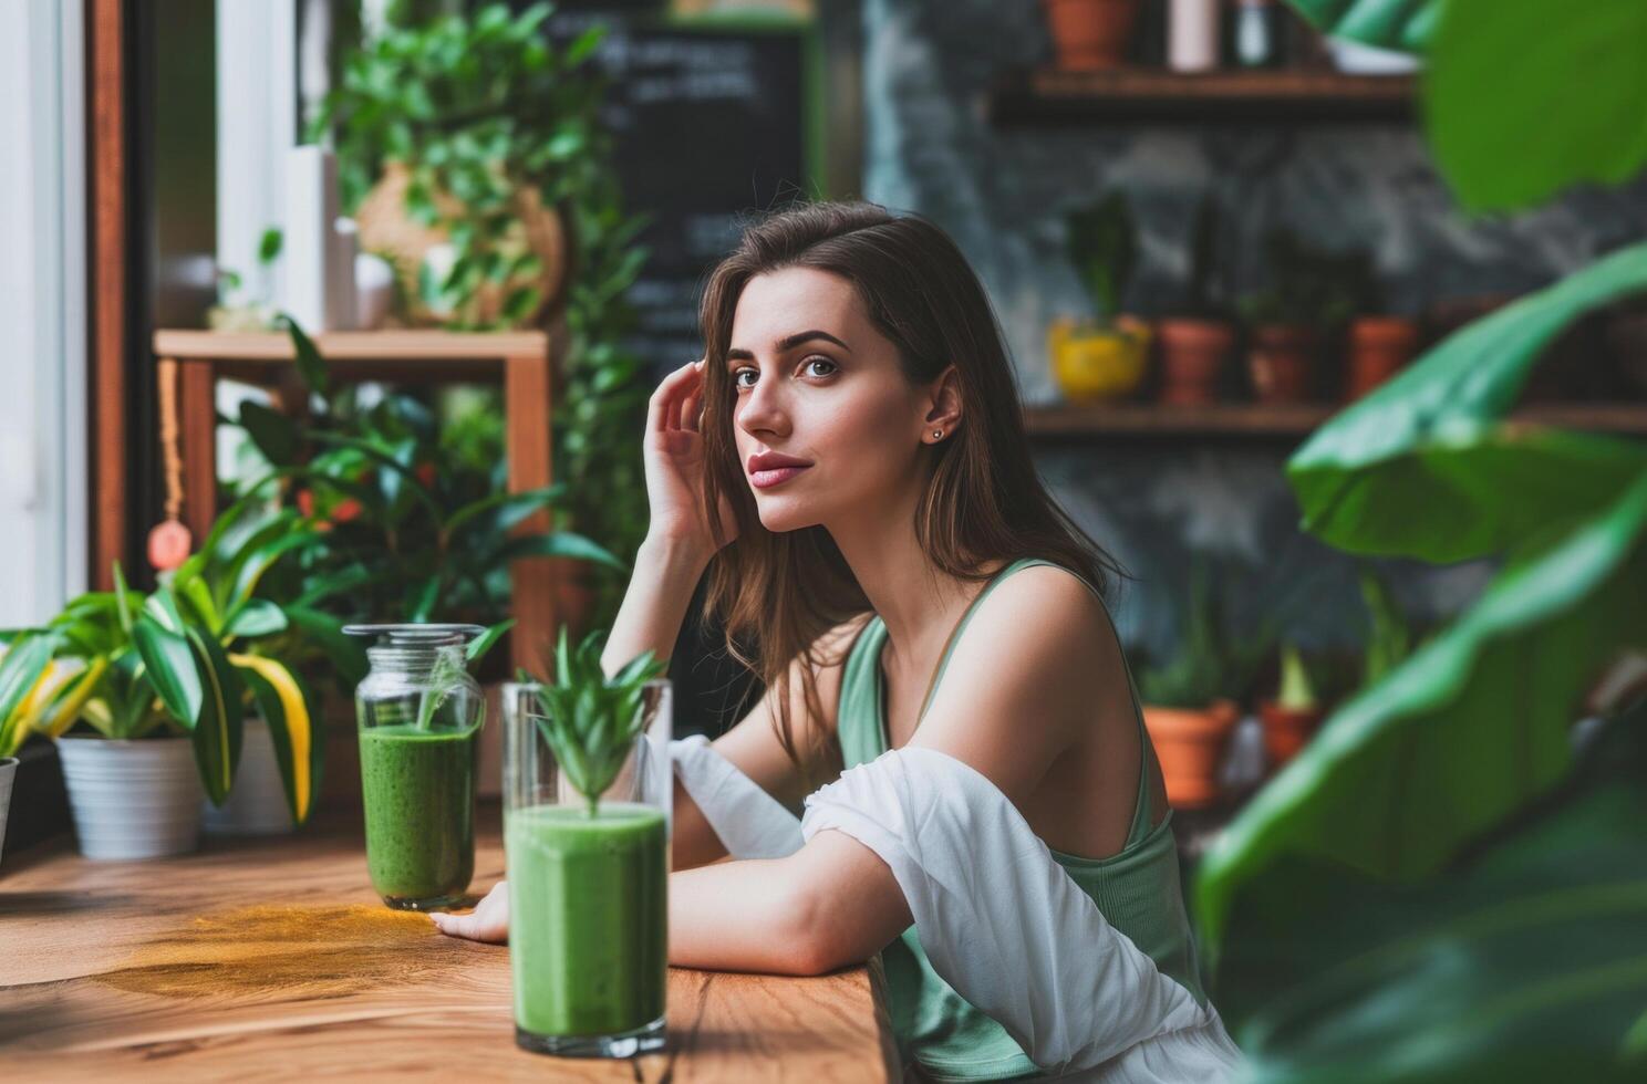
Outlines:
[{"label": "woman's face with pink lips, turned toward the left", "polygon": [[[888,508],[921,484],[929,398],[847,280],[812,268],[743,288],[725,359],[733,434],[761,525],[794,531]],[[763,469],[781,456],[800,469]]]}]

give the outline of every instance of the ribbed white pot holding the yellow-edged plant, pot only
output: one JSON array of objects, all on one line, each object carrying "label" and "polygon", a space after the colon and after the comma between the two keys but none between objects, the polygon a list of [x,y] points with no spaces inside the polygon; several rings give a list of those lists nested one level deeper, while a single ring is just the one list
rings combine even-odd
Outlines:
[{"label": "ribbed white pot holding the yellow-edged plant, pot only", "polygon": [[87,859],[158,859],[199,845],[201,788],[188,739],[58,739],[74,834]]}]

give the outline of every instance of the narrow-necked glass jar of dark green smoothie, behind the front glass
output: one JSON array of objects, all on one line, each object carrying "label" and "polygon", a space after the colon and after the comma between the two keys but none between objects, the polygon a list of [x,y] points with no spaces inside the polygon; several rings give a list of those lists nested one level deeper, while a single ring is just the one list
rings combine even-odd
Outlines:
[{"label": "narrow-necked glass jar of dark green smoothie, behind the front glass", "polygon": [[474,873],[476,737],[481,688],[464,640],[474,625],[349,625],[379,635],[356,689],[366,869],[384,903],[438,910]]}]

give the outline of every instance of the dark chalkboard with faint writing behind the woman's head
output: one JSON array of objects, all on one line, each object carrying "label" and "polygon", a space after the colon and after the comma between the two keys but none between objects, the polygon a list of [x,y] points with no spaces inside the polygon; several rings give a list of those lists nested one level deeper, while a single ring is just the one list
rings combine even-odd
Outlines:
[{"label": "dark chalkboard with faint writing behind the woman's head", "polygon": [[624,204],[651,217],[652,257],[629,291],[631,345],[657,377],[698,357],[698,298],[749,212],[815,194],[817,48],[787,21],[669,23],[659,16],[562,12],[548,33],[590,23],[606,38],[595,63],[611,76],[604,122],[616,137]]}]

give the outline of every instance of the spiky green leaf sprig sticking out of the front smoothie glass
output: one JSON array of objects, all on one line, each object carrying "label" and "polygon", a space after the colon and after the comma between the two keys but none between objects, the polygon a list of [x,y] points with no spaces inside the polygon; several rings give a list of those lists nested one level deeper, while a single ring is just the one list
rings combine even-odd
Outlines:
[{"label": "spiky green leaf sprig sticking out of the front smoothie glass", "polygon": [[608,679],[601,669],[601,640],[598,630],[590,632],[576,651],[568,651],[567,628],[562,627],[555,646],[555,684],[539,688],[544,706],[539,730],[591,818],[646,727],[642,689],[665,668],[652,651],[646,651]]}]

